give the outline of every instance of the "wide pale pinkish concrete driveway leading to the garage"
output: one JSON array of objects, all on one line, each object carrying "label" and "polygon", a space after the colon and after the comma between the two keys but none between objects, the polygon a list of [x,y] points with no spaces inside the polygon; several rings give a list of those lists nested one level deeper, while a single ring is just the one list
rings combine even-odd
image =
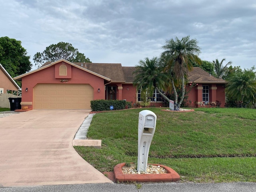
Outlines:
[{"label": "wide pale pinkish concrete driveway leading to the garage", "polygon": [[72,146],[88,114],[31,110],[0,118],[0,186],[111,183]]}]

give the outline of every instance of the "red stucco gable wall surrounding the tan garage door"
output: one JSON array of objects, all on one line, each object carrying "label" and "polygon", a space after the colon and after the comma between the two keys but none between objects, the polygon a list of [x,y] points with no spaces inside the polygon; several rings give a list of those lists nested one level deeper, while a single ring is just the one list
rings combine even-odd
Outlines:
[{"label": "red stucco gable wall surrounding the tan garage door", "polygon": [[[66,64],[67,66],[69,64]],[[72,72],[72,78],[68,82],[60,82],[59,78],[55,78],[55,66],[50,66],[38,72],[32,73],[22,78],[22,105],[33,108],[33,88],[38,83],[68,83],[68,84],[90,84],[94,88],[94,100],[104,99],[104,79],[80,70],[74,66],[69,69]],[[26,92],[28,88],[28,92]],[[98,92],[100,88],[100,92]]]}]

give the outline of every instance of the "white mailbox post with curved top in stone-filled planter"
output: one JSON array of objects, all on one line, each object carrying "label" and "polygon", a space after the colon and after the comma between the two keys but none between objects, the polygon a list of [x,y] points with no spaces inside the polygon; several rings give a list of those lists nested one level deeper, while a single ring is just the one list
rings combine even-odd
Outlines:
[{"label": "white mailbox post with curved top in stone-filled planter", "polygon": [[156,114],[150,110],[139,113],[138,124],[138,166],[137,170],[146,172],[148,152],[156,130]]}]

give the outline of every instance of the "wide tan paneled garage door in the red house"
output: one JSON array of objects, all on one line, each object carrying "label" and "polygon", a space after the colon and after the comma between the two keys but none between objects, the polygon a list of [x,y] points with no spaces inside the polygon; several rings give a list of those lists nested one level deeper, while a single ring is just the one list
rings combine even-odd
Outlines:
[{"label": "wide tan paneled garage door in the red house", "polygon": [[90,109],[93,88],[89,84],[37,84],[34,109]]}]

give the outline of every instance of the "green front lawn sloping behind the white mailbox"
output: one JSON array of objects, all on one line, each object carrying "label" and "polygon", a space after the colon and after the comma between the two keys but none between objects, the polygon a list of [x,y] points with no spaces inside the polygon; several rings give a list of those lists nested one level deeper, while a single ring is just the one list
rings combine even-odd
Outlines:
[{"label": "green front lawn sloping behind the white mailbox", "polygon": [[[196,108],[157,116],[148,163],[163,164],[183,182],[256,182],[256,110]],[[75,147],[101,172],[121,162],[137,162],[138,114],[143,108],[94,115],[88,138],[101,139],[102,149]]]}]

